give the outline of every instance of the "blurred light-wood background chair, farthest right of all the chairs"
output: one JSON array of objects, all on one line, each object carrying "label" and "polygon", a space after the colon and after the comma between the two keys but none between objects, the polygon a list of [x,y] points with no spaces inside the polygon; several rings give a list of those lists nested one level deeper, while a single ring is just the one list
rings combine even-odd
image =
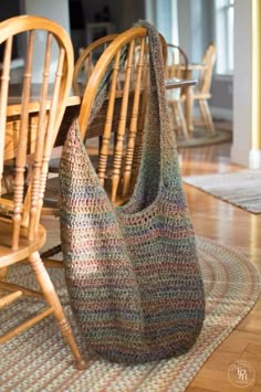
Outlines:
[{"label": "blurred light-wood background chair, farthest right of all the chairs", "polygon": [[212,82],[212,72],[216,63],[216,46],[213,43],[210,43],[202,57],[202,68],[198,75],[198,84],[195,87],[192,99],[198,102],[200,109],[200,119],[195,121],[195,125],[203,124],[206,129],[210,130],[211,134],[215,134],[215,126],[212,121],[212,116],[209,109],[208,100],[211,98],[211,82]]}]

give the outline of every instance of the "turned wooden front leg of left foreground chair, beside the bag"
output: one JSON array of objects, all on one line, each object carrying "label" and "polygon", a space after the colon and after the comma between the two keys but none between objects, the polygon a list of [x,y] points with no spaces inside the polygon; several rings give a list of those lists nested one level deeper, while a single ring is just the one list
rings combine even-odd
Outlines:
[{"label": "turned wooden front leg of left foreground chair, beside the bag", "polygon": [[77,345],[74,339],[70,324],[64,315],[60,299],[56,295],[56,292],[53,287],[51,279],[50,279],[50,276],[42,263],[39,252],[34,252],[29,257],[29,262],[30,262],[32,269],[35,274],[39,286],[42,289],[44,298],[46,299],[48,304],[53,308],[53,315],[56,319],[58,327],[71,349],[71,352],[75,359],[76,368],[79,370],[86,369],[87,363],[83,359],[83,357],[77,348]]}]

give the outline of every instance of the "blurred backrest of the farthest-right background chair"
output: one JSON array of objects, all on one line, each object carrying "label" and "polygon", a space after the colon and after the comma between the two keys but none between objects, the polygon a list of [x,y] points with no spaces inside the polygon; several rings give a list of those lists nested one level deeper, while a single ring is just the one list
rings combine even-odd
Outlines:
[{"label": "blurred backrest of the farthest-right background chair", "polygon": [[208,94],[210,92],[216,59],[217,59],[216,45],[211,42],[207,46],[206,52],[202,56],[202,64],[206,65],[206,67],[200,70],[198,76],[197,89],[202,94]]}]

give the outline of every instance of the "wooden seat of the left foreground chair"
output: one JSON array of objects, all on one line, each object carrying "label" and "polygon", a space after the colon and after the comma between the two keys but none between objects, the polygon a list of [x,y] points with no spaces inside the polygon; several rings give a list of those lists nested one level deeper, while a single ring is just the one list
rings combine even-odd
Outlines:
[{"label": "wooden seat of the left foreground chair", "polygon": [[44,245],[46,232],[42,225],[38,230],[38,239],[29,241],[27,239],[27,230],[21,229],[19,248],[13,251],[11,246],[12,221],[0,218],[0,268],[27,258],[33,252]]}]

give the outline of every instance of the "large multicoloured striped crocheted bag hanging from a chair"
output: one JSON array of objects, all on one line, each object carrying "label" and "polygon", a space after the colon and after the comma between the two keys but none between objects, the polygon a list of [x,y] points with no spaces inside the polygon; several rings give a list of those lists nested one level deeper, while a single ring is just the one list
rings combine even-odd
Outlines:
[{"label": "large multicoloured striped crocheted bag hanging from a chair", "polygon": [[73,314],[86,350],[119,362],[188,351],[205,294],[165,97],[158,33],[150,24],[148,121],[138,180],[124,206],[100,186],[77,126],[61,159],[61,236]]}]

